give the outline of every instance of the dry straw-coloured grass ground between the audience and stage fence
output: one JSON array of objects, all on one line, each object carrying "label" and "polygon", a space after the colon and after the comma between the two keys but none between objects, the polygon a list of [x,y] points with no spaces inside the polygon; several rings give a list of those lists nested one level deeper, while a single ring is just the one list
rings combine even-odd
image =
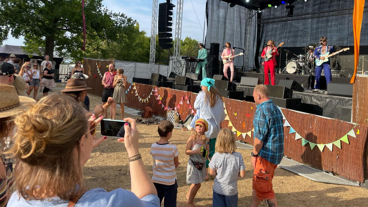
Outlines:
[{"label": "dry straw-coloured grass ground between the audience and stage fence", "polygon": [[[58,86],[55,92],[61,90]],[[42,95],[42,94],[41,94]],[[38,95],[40,96],[40,94]],[[89,95],[91,109],[101,101],[100,97]],[[117,109],[118,112],[120,109]],[[120,117],[120,115],[117,115]],[[125,113],[125,117],[133,117]],[[152,175],[152,157],[149,154],[151,144],[158,141],[157,126],[138,124],[139,150],[149,174]],[[98,136],[100,132],[96,133]],[[188,156],[185,155],[185,143],[189,133],[174,130],[170,139],[178,146],[180,166],[177,168],[178,196],[177,206],[185,205],[185,195],[189,189],[186,184]],[[238,180],[238,206],[251,206],[252,166],[251,150],[238,149],[242,153],[246,166],[246,176]],[[116,138],[109,137],[101,145],[93,149],[91,158],[85,165],[85,183],[88,188],[130,189],[130,176],[127,174],[128,156],[124,144]],[[213,178],[202,183],[194,202],[197,206],[212,205]],[[273,178],[273,189],[280,207],[363,207],[368,204],[368,190],[360,187],[322,184],[303,178],[289,171],[277,168]],[[259,206],[262,206],[260,204]]]}]

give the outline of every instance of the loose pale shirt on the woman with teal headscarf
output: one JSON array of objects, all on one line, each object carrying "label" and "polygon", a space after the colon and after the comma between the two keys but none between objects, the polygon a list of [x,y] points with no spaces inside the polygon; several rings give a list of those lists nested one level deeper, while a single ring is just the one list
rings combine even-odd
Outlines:
[{"label": "loose pale shirt on the woman with teal headscarf", "polygon": [[194,108],[197,109],[197,113],[192,119],[190,126],[195,128],[195,121],[197,119],[204,119],[208,122],[208,131],[206,131],[206,137],[209,139],[216,138],[220,131],[220,123],[225,120],[224,104],[221,98],[217,98],[215,106],[211,108],[209,105],[209,98],[206,101],[206,93],[200,91],[194,102]]}]

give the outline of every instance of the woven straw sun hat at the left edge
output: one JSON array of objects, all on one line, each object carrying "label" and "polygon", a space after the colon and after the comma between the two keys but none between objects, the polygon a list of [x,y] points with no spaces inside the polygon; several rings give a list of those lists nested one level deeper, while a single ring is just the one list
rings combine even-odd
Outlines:
[{"label": "woven straw sun hat at the left edge", "polygon": [[18,96],[14,86],[0,84],[0,118],[15,116],[24,112],[36,101],[33,98]]}]

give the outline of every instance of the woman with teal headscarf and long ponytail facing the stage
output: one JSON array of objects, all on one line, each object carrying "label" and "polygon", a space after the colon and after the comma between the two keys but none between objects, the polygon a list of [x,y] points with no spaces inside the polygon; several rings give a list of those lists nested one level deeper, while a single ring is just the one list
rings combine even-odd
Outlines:
[{"label": "woman with teal headscarf and long ponytail facing the stage", "polygon": [[[206,131],[206,137],[210,139],[209,146],[209,159],[215,154],[216,137],[220,128],[221,121],[225,120],[225,110],[220,93],[216,90],[215,80],[205,78],[201,81],[201,88],[194,102],[194,108],[197,113],[190,123],[190,127],[195,128],[195,121],[197,119],[204,119],[208,122],[208,131]],[[183,131],[190,131],[186,128]],[[206,167],[208,168],[209,160],[206,161]],[[208,175],[206,176],[208,179]]]}]

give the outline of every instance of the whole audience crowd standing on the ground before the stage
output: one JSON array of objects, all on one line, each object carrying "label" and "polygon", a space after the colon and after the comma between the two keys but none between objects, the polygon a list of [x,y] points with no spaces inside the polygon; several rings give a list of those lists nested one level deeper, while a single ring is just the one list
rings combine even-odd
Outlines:
[{"label": "whole audience crowd standing on the ground before the stage", "polygon": [[[91,88],[86,86],[88,76],[83,75],[79,62],[65,89],[60,94],[47,95],[47,90],[55,84],[50,81],[53,77],[50,63],[44,64],[42,79],[38,64],[33,64],[31,69],[29,62],[24,63],[18,78],[14,65],[0,63],[0,96],[3,97],[0,100],[0,152],[3,155],[0,157],[3,161],[0,164],[0,207],[160,206],[162,200],[165,207],[176,206],[176,168],[181,163],[178,147],[169,142],[173,123],[166,120],[158,124],[160,138],[151,146],[152,177],[139,153],[135,120],[125,118],[130,126],[124,125],[124,137],[117,141],[124,141],[128,152],[131,190],[118,188],[107,192],[102,188],[85,187],[83,166],[92,149],[107,138],[96,137],[97,124],[107,117],[110,106],[110,118],[115,118],[116,109],[113,108],[117,103],[123,116],[127,99],[123,88],[127,76],[123,75],[123,69],[115,71],[115,65],[110,64],[102,79],[103,104],[89,111],[89,102],[87,107],[85,99],[86,91]],[[24,73],[28,75],[23,76]],[[12,86],[17,79],[30,83],[24,96]],[[45,96],[36,102],[34,94],[37,94],[39,86],[36,85],[40,79]],[[212,206],[237,206],[237,180],[245,176],[243,156],[236,152],[233,132],[222,127],[226,115],[214,80],[203,79],[201,88],[194,103],[197,113],[190,127],[183,129],[191,133],[185,148],[189,156],[186,182],[190,184],[186,204],[194,206],[201,183],[212,175],[215,177]],[[32,90],[33,98],[27,97]],[[251,153],[254,168],[252,207],[258,206],[261,200],[266,200],[269,206],[277,206],[272,178],[283,156],[282,115],[269,99],[266,86],[256,86],[253,96],[257,109]]]}]

